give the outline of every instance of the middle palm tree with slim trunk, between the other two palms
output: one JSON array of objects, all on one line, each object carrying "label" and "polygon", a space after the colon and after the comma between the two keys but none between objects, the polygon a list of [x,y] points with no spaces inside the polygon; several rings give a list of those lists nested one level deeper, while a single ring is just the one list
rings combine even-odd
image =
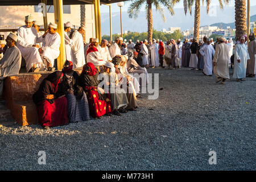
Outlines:
[{"label": "middle palm tree with slim trunk, between the other two palms", "polygon": [[[202,1],[202,4],[204,5],[204,0],[201,0],[201,1]],[[180,2],[180,0],[172,0],[173,5],[175,5],[175,3],[177,2]],[[205,2],[207,3],[207,14],[208,14],[211,0],[205,0]],[[223,9],[222,0],[218,0],[218,2],[220,3],[220,9]],[[223,2],[225,3],[225,5],[227,5],[229,3],[229,0],[223,0]],[[191,7],[193,6],[194,3],[195,3],[194,37],[197,38],[197,40],[199,40],[200,0],[183,0],[185,14],[187,14],[187,11],[189,11],[189,13],[192,14]]]}]

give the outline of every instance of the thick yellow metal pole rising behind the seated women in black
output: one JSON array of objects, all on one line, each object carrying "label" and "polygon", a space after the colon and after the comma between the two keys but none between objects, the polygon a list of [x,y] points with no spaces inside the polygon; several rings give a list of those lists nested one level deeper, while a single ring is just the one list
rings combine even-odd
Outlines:
[{"label": "thick yellow metal pole rising behind the seated women in black", "polygon": [[57,24],[57,33],[60,35],[60,55],[57,58],[57,68],[61,70],[66,60],[63,23],[63,0],[53,0],[53,6],[55,23]]}]

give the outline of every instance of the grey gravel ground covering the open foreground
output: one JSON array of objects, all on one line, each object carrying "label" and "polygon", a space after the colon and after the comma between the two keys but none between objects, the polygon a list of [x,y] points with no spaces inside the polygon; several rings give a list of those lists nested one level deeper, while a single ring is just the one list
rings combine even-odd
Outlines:
[{"label": "grey gravel ground covering the open foreground", "polygon": [[[255,78],[222,85],[185,68],[148,72],[159,73],[158,100],[142,94],[138,111],[122,117],[51,130],[0,127],[0,170],[256,169]],[[46,165],[38,164],[39,151]]]}]

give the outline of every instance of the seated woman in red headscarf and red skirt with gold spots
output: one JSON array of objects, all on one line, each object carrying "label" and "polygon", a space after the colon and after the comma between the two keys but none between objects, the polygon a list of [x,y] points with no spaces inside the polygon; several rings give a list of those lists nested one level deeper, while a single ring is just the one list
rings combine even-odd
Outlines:
[{"label": "seated woman in red headscarf and red skirt with gold spots", "polygon": [[89,102],[90,115],[93,118],[101,118],[102,115],[112,115],[112,107],[110,102],[110,94],[105,93],[104,89],[98,84],[99,72],[92,63],[87,63],[82,67],[80,75],[80,84],[84,89]]}]

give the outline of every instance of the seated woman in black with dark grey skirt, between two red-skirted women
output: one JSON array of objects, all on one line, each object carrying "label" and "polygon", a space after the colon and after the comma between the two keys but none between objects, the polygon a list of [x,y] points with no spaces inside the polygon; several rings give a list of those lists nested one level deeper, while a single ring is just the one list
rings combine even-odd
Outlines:
[{"label": "seated woman in black with dark grey skirt, between two red-skirted women", "polygon": [[90,119],[89,105],[86,94],[80,86],[79,75],[73,71],[73,63],[66,61],[63,69],[61,87],[68,100],[69,122],[81,122]]}]

